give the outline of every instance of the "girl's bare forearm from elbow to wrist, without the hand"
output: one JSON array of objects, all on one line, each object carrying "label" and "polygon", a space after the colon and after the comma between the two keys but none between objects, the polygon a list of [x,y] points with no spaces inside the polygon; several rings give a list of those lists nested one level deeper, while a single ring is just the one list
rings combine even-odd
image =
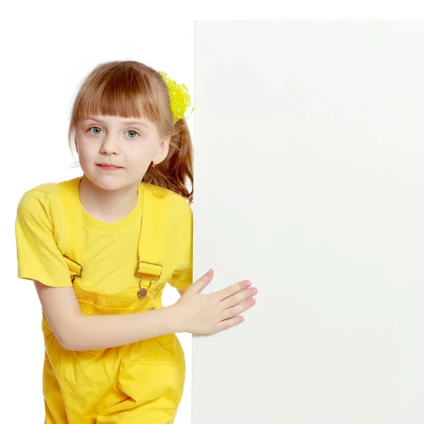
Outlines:
[{"label": "girl's bare forearm from elbow to wrist, without the hand", "polygon": [[61,343],[70,351],[112,348],[182,331],[174,305],[130,314],[78,316]]}]

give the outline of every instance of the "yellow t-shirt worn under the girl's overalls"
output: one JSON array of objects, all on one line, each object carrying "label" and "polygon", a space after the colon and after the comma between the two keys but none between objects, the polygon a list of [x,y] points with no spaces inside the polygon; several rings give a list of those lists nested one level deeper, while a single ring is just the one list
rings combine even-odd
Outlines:
[{"label": "yellow t-shirt worn under the girl's overalls", "polygon": [[[179,290],[186,290],[193,283],[193,212],[183,196],[165,191],[167,196],[177,196],[173,199],[176,210],[172,213],[179,216],[172,240],[165,240],[165,244],[172,245],[172,263],[176,264],[167,282]],[[49,184],[30,189],[20,199],[15,225],[18,278],[38,280],[54,287],[71,287],[69,268],[57,244],[61,223],[57,201]],[[82,205],[81,213],[85,288],[103,294],[122,292],[133,283],[138,263],[140,197],[129,215],[114,223],[93,218]]]}]

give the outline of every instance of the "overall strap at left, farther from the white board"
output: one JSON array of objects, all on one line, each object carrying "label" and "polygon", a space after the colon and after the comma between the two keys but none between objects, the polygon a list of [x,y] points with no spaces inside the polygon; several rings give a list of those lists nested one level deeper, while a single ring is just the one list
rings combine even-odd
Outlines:
[{"label": "overall strap at left, farther from the white board", "polygon": [[69,268],[71,280],[81,277],[83,266],[83,217],[78,194],[81,177],[57,183],[59,207],[61,208],[61,237],[59,250]]}]

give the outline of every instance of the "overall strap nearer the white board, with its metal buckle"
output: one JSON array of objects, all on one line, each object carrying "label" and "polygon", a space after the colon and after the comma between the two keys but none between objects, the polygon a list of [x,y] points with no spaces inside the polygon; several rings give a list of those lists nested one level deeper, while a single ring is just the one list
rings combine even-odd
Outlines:
[{"label": "overall strap nearer the white board, with its metal buckle", "polygon": [[143,214],[139,238],[139,264],[134,276],[139,277],[139,298],[146,297],[152,281],[158,281],[163,271],[163,252],[167,218],[166,190],[142,183]]}]

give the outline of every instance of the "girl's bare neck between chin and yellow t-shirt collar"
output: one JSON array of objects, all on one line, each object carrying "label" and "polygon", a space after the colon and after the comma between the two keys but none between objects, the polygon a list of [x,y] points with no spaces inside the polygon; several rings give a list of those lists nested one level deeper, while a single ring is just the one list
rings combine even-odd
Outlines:
[{"label": "girl's bare neck between chin and yellow t-shirt collar", "polygon": [[81,205],[93,218],[114,223],[125,218],[137,204],[139,184],[117,190],[96,186],[85,175],[79,182]]}]

